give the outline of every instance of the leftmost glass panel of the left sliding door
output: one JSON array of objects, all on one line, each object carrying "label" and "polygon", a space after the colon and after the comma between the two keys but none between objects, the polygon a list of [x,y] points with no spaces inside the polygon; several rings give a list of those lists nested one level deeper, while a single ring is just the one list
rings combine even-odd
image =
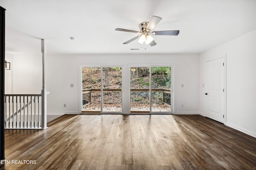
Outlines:
[{"label": "leftmost glass panel of the left sliding door", "polygon": [[82,113],[101,112],[101,68],[82,67]]}]

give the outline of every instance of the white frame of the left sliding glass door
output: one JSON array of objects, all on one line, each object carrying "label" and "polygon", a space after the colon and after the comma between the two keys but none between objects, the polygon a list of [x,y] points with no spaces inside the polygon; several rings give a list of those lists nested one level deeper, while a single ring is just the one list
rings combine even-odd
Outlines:
[{"label": "white frame of the left sliding glass door", "polygon": [[98,67],[100,68],[100,112],[88,112],[85,114],[120,114],[124,113],[124,94],[123,94],[123,77],[124,77],[124,72],[122,71],[122,111],[103,111],[103,67],[120,67],[121,70],[123,70],[124,66],[123,65],[80,65],[80,93],[79,93],[79,111],[80,114],[82,113],[82,68],[83,67]]}]

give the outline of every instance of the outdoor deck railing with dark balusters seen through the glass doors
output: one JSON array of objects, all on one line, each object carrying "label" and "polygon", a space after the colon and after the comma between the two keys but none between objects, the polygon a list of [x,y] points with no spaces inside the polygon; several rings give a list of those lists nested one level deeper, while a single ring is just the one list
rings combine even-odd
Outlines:
[{"label": "outdoor deck railing with dark balusters seen through the glass doors", "polygon": [[[164,103],[171,105],[170,89],[152,89],[151,90],[152,103]],[[150,90],[149,89],[130,89],[131,103],[149,103]],[[82,90],[82,105],[89,103],[100,103],[101,92],[100,89],[83,89]],[[103,89],[103,103],[122,103],[121,89]]]}]

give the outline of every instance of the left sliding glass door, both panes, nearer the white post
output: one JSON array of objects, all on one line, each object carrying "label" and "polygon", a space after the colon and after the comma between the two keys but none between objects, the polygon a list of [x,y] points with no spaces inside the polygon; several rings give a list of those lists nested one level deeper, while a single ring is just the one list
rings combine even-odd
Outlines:
[{"label": "left sliding glass door, both panes, nearer the white post", "polygon": [[122,112],[122,68],[82,67],[82,113]]}]

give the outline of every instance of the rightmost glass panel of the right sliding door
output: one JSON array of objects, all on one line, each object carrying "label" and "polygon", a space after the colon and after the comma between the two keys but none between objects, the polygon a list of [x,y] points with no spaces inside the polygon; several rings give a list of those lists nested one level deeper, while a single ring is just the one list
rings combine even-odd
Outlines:
[{"label": "rightmost glass panel of the right sliding door", "polygon": [[171,111],[171,67],[151,67],[151,111]]}]

